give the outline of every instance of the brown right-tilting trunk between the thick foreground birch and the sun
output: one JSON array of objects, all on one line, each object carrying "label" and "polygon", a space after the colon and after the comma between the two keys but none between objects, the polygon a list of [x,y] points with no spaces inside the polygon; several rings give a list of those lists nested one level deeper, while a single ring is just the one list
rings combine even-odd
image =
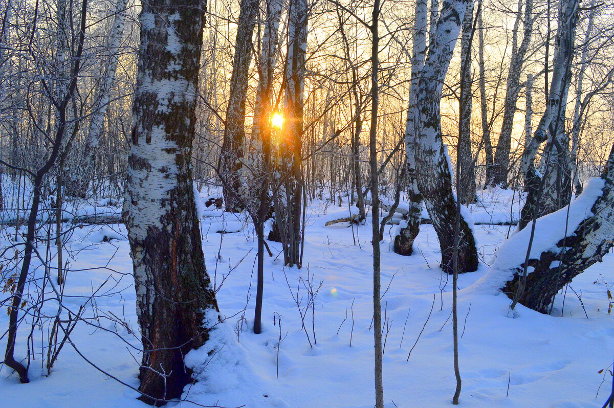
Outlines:
[{"label": "brown right-tilting trunk between the thick foreground birch and the sun", "polygon": [[222,160],[220,175],[224,179],[223,196],[228,212],[237,212],[241,209],[238,196],[242,195],[241,190],[243,190],[240,172],[245,142],[245,100],[247,98],[249,64],[252,61],[252,35],[254,34],[258,6],[258,0],[241,0],[236,30],[230,97],[228,98],[226,126],[220,157]]}]

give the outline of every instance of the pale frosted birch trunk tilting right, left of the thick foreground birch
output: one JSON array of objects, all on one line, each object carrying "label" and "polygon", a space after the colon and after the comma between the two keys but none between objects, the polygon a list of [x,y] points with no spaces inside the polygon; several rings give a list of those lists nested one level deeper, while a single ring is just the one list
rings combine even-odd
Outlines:
[{"label": "pale frosted birch trunk tilting right, left of the thick foreground birch", "polygon": [[80,176],[80,185],[77,194],[85,196],[90,180],[94,179],[96,150],[98,143],[104,132],[104,117],[107,113],[109,100],[111,98],[111,88],[115,80],[119,52],[122,45],[123,27],[126,20],[127,0],[117,0],[115,6],[115,18],[107,42],[105,55],[106,64],[103,68],[102,77],[96,90],[96,107],[91,117],[90,131],[85,139],[84,148],[84,171]]}]

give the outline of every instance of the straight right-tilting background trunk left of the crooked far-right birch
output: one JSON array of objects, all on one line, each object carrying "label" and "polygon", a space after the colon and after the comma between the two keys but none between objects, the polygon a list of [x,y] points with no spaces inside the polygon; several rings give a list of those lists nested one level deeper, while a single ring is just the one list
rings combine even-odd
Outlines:
[{"label": "straight right-tilting background trunk left of the crooked far-right birch", "polygon": [[[520,74],[523,71],[525,56],[533,33],[533,1],[526,0],[524,2],[524,18],[522,17],[521,9],[522,0],[519,0],[518,13],[516,14],[511,40],[510,71],[507,77],[505,102],[503,102],[503,123],[501,125],[501,133],[499,134],[497,150],[494,156],[494,167],[491,174],[492,179],[487,180],[488,184],[492,187],[495,185],[507,185],[507,175],[510,170],[511,131],[514,125],[514,114],[516,113],[518,94],[522,89]],[[518,46],[518,31],[521,19],[523,20],[524,33],[523,40]]]}]

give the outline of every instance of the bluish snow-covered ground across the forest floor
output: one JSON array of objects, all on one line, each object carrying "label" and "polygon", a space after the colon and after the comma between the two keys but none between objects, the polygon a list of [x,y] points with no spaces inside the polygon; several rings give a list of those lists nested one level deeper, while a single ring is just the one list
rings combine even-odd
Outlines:
[{"label": "bluish snow-covered ground across the forest floor", "polygon": [[[518,212],[519,206],[507,193],[492,192],[476,211],[509,220],[510,212]],[[201,381],[187,387],[184,398],[225,407],[373,407],[371,227],[324,226],[328,220],[347,215],[348,205],[336,207],[330,201],[319,201],[308,209],[302,269],[284,268],[279,245],[269,242],[274,257],[265,260],[263,333],[255,335],[251,332],[253,229],[235,215],[209,209],[203,213],[206,264],[216,287],[221,286],[217,298],[226,320],[209,344],[188,354],[187,362]],[[392,252],[391,228],[394,226],[384,234],[381,268],[386,407],[447,407],[455,385],[451,280],[438,268],[440,254],[432,226],[422,226],[416,241],[419,250],[409,257]],[[608,315],[607,285],[602,280],[614,283],[614,256],[605,256],[603,263],[573,281],[566,296],[557,296],[553,315],[518,306],[518,318],[511,318],[507,296],[484,291],[474,283],[489,273],[495,249],[513,228],[476,225],[483,264],[477,272],[459,276],[461,405],[601,407],[610,393],[612,377],[599,371],[611,369],[614,357],[614,316]],[[221,230],[239,232],[216,233]],[[111,242],[104,242],[105,236]],[[2,247],[9,244],[6,238],[2,237]],[[68,275],[64,306],[78,309],[92,288],[102,285],[98,295],[104,296],[96,297],[96,313],[129,323],[126,328],[112,319],[95,321],[108,331],[79,323],[71,335],[74,345],[107,374],[137,387],[140,356],[131,346],[138,347],[138,339],[130,333],[138,333],[138,325],[123,225],[78,229],[68,250],[74,255],[74,271]],[[314,290],[321,287],[314,310],[303,312],[306,334],[294,299],[300,288],[298,303],[305,310],[308,280]],[[93,314],[92,304],[88,303],[86,316]],[[2,311],[2,331],[7,318]],[[34,331],[34,337],[42,336],[47,333]],[[25,337],[19,344],[17,355],[25,355]],[[0,341],[0,348],[4,347]],[[217,352],[208,356],[211,348]],[[64,347],[49,377],[42,375],[42,366],[42,360],[32,362],[33,378],[26,385],[3,367],[0,407],[147,407],[135,399],[134,391],[88,364],[70,345]],[[177,406],[196,405],[180,402]]]}]

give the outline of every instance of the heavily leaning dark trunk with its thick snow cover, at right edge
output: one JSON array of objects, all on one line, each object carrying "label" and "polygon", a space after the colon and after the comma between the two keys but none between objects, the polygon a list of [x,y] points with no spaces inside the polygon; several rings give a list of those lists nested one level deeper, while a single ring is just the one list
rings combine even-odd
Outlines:
[{"label": "heavily leaning dark trunk with its thick snow cover, at right edge", "polygon": [[614,237],[614,147],[604,173],[592,179],[568,207],[538,218],[529,254],[524,290],[523,270],[530,225],[505,241],[481,282],[510,298],[520,291],[524,306],[547,313],[555,294],[612,248]]}]

